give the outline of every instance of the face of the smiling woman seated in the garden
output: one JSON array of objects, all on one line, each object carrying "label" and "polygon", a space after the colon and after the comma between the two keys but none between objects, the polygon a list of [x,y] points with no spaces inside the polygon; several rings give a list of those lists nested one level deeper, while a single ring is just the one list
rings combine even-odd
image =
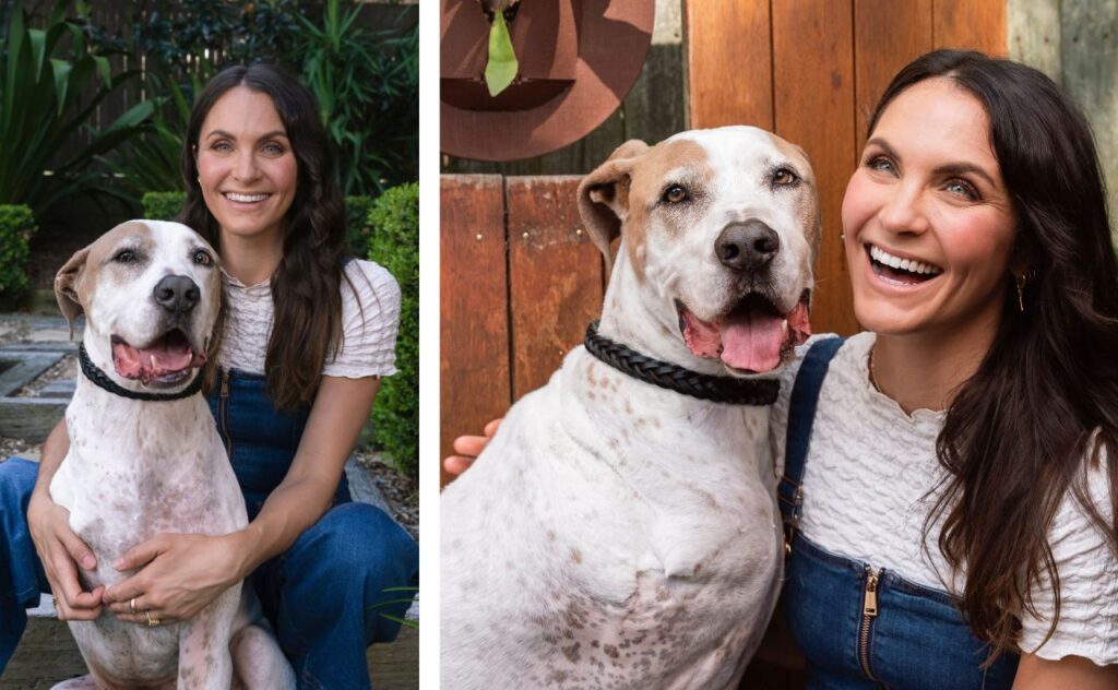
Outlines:
[{"label": "face of the smiling woman seated in the garden", "polygon": [[218,98],[202,122],[197,162],[222,236],[283,240],[299,166],[267,94],[236,86]]}]

